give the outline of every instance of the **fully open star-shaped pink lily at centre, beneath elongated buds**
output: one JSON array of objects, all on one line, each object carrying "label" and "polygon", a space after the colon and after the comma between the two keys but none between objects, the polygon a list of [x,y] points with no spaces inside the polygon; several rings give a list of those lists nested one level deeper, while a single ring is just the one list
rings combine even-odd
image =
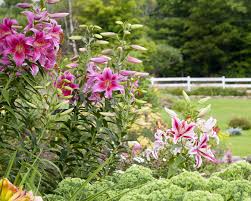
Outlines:
[{"label": "fully open star-shaped pink lily at centre, beneath elongated buds", "polygon": [[93,92],[105,92],[106,98],[112,98],[113,91],[122,91],[124,87],[119,84],[119,75],[113,74],[110,68],[105,68],[103,73],[97,76],[97,82],[93,86]]}]

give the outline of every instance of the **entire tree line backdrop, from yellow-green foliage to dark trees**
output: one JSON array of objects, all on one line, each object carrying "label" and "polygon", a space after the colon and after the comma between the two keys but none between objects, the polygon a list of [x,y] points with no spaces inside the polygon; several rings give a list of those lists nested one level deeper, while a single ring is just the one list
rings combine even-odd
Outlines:
[{"label": "entire tree line backdrop, from yellow-green foliage to dark trees", "polygon": [[[15,16],[17,2],[5,0],[1,18]],[[144,24],[134,40],[148,48],[141,68],[155,76],[251,76],[249,0],[62,0],[49,8],[69,9],[72,19],[61,23],[67,35],[80,24],[109,31],[117,20]],[[65,45],[74,51],[72,41]]]}]

